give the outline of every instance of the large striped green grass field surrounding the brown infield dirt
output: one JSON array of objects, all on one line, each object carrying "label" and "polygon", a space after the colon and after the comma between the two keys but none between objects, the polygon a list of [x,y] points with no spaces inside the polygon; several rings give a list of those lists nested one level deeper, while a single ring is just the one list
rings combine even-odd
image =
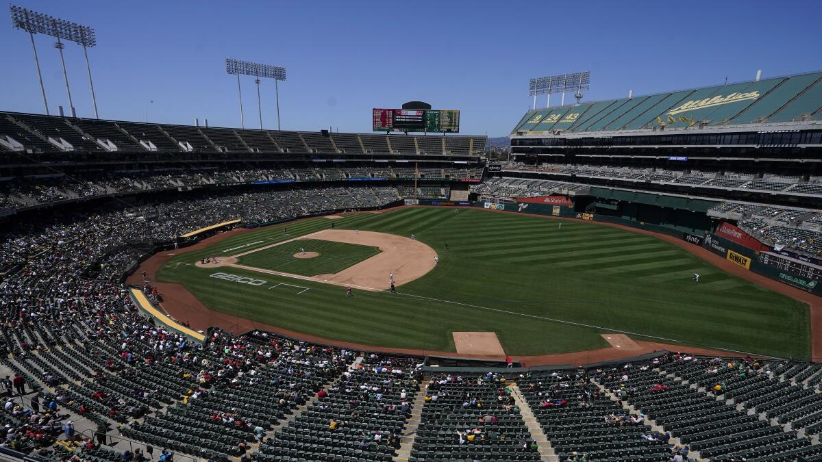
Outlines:
[{"label": "large striped green grass field surrounding the brown infield dirt", "polygon": [[[494,330],[507,353],[561,353],[607,347],[600,334],[626,330],[705,348],[808,358],[808,307],[750,284],[651,236],[600,224],[409,208],[336,219],[338,229],[409,236],[434,247],[440,263],[399,294],[356,293],[302,281],[311,290],[259,289],[174,265],[211,253],[233,255],[330,228],[307,219],[229,238],[173,257],[158,279],[178,282],[215,311],[289,330],[377,346],[454,351],[455,330]],[[450,250],[445,250],[448,243]],[[242,250],[225,249],[247,245]],[[308,248],[306,248],[308,250]],[[253,254],[251,254],[253,255]],[[174,268],[174,266],[177,266]],[[235,268],[230,272],[261,278]],[[700,283],[690,280],[700,274]],[[264,275],[271,282],[288,278]],[[593,327],[570,326],[558,321]],[[659,340],[663,341],[663,340]]]}]

